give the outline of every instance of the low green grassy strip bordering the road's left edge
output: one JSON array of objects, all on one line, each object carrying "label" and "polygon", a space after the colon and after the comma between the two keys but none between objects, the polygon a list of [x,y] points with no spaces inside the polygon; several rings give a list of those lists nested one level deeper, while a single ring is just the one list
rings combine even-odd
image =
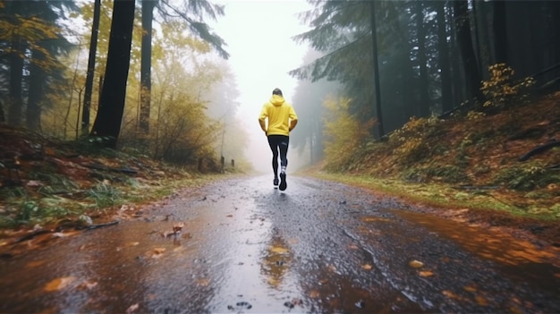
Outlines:
[{"label": "low green grassy strip bordering the road's left edge", "polygon": [[[216,175],[183,174],[182,178],[165,178],[140,182],[129,178],[123,183],[95,182],[89,189],[81,190],[77,184],[64,193],[52,193],[55,187],[47,186],[37,191],[22,187],[0,189],[3,200],[0,229],[21,225],[52,225],[61,220],[77,219],[81,215],[99,216],[101,222],[110,220],[115,208],[123,205],[141,205],[184,188],[194,188],[217,180]],[[222,176],[223,178],[223,176]],[[70,181],[66,180],[66,183]]]}]

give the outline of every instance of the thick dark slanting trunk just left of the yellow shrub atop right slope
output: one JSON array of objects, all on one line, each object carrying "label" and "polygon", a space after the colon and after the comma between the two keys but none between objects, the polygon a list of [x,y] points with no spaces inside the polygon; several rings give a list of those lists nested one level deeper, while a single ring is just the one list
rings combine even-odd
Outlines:
[{"label": "thick dark slanting trunk just left of the yellow shrub atop right slope", "polygon": [[457,41],[462,55],[462,67],[465,72],[467,95],[469,98],[474,98],[475,104],[481,105],[484,102],[484,95],[480,91],[480,73],[474,55],[474,47],[472,47],[468,4],[469,2],[467,0],[453,2]]}]

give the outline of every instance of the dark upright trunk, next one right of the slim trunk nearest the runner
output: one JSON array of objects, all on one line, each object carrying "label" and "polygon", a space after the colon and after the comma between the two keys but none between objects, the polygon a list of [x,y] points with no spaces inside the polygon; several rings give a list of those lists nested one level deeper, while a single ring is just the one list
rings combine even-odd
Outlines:
[{"label": "dark upright trunk, next one right of the slim trunk nearest the runner", "polygon": [[420,67],[420,106],[419,115],[429,115],[428,60],[426,58],[426,29],[424,28],[423,2],[416,2],[416,31],[418,39],[418,62]]}]

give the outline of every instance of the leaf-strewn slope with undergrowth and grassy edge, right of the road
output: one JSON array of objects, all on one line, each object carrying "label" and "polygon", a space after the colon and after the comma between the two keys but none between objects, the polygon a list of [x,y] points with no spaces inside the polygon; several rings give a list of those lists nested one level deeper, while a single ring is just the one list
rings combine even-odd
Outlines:
[{"label": "leaf-strewn slope with undergrowth and grassy edge, right of the road", "polygon": [[324,169],[439,205],[560,218],[560,148],[520,161],[560,139],[560,92],[531,98],[532,79],[513,81],[505,64],[489,71],[482,84],[488,101],[479,111],[412,117],[384,140],[337,150],[336,163],[327,155]]}]

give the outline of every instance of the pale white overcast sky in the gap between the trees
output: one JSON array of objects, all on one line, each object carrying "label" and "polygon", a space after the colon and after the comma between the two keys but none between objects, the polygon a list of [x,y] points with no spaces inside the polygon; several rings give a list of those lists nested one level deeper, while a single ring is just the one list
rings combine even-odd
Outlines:
[{"label": "pale white overcast sky in the gap between the trees", "polygon": [[[229,64],[236,77],[241,104],[238,115],[250,133],[247,157],[256,170],[271,173],[271,152],[264,132],[260,130],[260,108],[267,102],[276,87],[282,89],[284,98],[292,102],[297,80],[287,74],[300,67],[308,50],[298,45],[294,35],[309,28],[302,25],[296,14],[310,8],[304,0],[228,0],[225,16],[214,26],[216,33],[225,39],[230,53]],[[298,104],[293,104],[297,111]],[[295,156],[289,151],[288,159]]]}]

